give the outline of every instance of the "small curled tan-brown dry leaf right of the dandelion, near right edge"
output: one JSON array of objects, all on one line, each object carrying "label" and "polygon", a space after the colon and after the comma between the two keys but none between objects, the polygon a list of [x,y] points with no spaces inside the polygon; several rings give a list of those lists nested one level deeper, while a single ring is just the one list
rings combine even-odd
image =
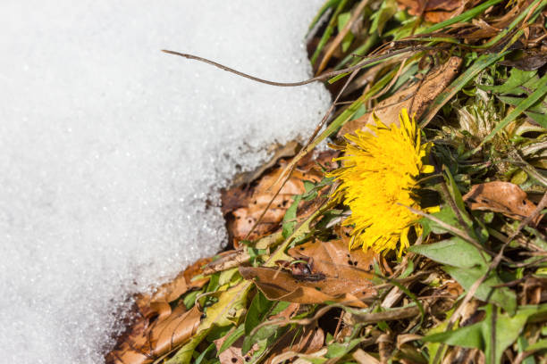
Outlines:
[{"label": "small curled tan-brown dry leaf right of the dandelion, near right edge", "polygon": [[[526,192],[510,182],[494,181],[471,186],[463,196],[471,210],[501,212],[513,219],[526,219],[535,210],[535,204],[528,199]],[[542,219],[539,215],[534,224]]]}]

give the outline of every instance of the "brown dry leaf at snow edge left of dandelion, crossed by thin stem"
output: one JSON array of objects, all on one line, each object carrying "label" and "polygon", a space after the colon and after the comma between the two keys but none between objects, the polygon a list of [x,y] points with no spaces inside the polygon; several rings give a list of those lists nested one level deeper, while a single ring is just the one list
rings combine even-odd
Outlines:
[{"label": "brown dry leaf at snow edge left of dandelion, crossed by thin stem", "polygon": [[323,177],[323,172],[316,162],[329,168],[334,155],[333,151],[325,151],[315,159],[310,160],[310,156],[308,159],[300,161],[297,169],[274,199],[273,196],[279,185],[273,186],[273,184],[279,178],[283,166],[286,164],[283,160],[280,161],[278,168],[265,174],[257,181],[256,185],[236,186],[223,191],[222,211],[228,220],[228,231],[234,240],[234,246],[237,247],[238,242],[248,235],[272,199],[273,203],[257,227],[248,236],[248,240],[256,240],[277,230],[281,226],[285,212],[292,203],[292,196],[303,194],[306,191],[302,180],[320,180]]}]

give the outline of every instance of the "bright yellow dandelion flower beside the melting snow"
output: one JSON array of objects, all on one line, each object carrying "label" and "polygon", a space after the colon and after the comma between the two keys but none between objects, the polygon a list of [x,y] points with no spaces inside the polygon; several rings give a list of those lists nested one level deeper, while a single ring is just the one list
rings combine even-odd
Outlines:
[{"label": "bright yellow dandelion flower beside the melting snow", "polygon": [[413,194],[420,173],[433,172],[422,159],[430,143],[420,143],[420,133],[407,109],[399,116],[400,128],[385,126],[374,116],[371,132],[346,135],[349,143],[339,158],[343,166],[331,177],[341,182],[335,196],[349,206],[351,215],[344,225],[353,226],[349,248],[389,252],[399,245],[399,256],[408,247],[408,230],[417,225],[418,216],[405,206],[419,209]]}]

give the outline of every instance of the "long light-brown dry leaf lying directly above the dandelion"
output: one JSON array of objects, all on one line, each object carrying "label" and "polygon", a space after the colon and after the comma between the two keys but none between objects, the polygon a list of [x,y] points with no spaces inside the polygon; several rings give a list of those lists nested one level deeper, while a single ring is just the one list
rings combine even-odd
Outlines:
[{"label": "long light-brown dry leaf lying directly above the dandelion", "polygon": [[[429,72],[423,82],[417,82],[378,103],[374,113],[386,125],[395,123],[399,126],[399,114],[402,108],[406,108],[409,115],[415,114],[415,118],[419,119],[429,103],[450,85],[452,79],[458,74],[460,65],[461,58],[450,57],[441,67]],[[372,112],[368,112],[344,124],[338,136],[366,128],[366,125],[373,125],[373,123]]]}]

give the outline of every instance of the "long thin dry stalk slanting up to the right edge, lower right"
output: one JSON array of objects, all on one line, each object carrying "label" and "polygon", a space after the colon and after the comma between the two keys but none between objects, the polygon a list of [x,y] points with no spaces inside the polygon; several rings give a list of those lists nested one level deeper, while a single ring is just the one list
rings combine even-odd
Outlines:
[{"label": "long thin dry stalk slanting up to the right edge, lower right", "polygon": [[[537,207],[535,208],[534,212],[532,212],[526,219],[524,219],[520,224],[518,224],[517,229],[511,234],[505,243],[501,246],[500,252],[495,256],[495,258],[492,260],[492,263],[486,269],[486,273],[484,273],[483,277],[478,278],[473,285],[469,288],[469,291],[467,292],[465,298],[463,301],[459,304],[458,309],[454,312],[454,314],[450,317],[449,323],[446,327],[445,331],[450,331],[450,329],[454,326],[456,323],[456,320],[459,318],[459,315],[461,314],[461,311],[464,310],[464,308],[467,306],[467,303],[471,301],[473,296],[475,295],[476,290],[478,289],[479,285],[482,285],[486,277],[492,272],[493,269],[496,269],[498,267],[498,264],[500,264],[501,258],[503,257],[503,252],[505,251],[505,248],[509,243],[515,238],[515,236],[518,236],[518,233],[520,233],[520,230],[522,230],[523,227],[526,227],[533,219],[535,219],[536,216],[539,215],[539,213],[543,210],[543,208],[547,206],[547,192],[543,194],[542,201],[537,204]],[[442,345],[443,346],[443,345]],[[435,359],[433,360],[433,363],[436,363],[438,358],[440,356],[440,353],[442,352],[442,348],[439,348],[439,351],[437,352],[437,355],[435,356]]]}]

